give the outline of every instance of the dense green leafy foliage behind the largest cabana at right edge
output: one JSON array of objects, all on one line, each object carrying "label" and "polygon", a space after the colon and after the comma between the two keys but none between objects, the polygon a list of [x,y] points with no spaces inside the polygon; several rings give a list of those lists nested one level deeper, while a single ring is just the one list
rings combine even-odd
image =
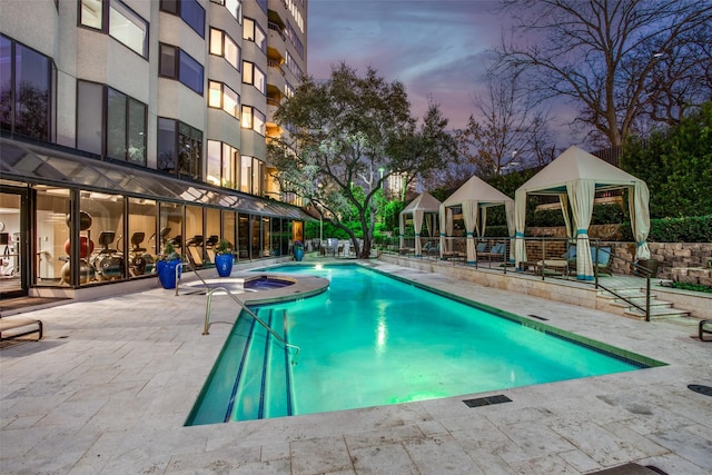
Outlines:
[{"label": "dense green leafy foliage behind the largest cabana at right edge", "polygon": [[629,139],[621,168],[647,184],[651,217],[712,215],[712,102],[647,140]]}]

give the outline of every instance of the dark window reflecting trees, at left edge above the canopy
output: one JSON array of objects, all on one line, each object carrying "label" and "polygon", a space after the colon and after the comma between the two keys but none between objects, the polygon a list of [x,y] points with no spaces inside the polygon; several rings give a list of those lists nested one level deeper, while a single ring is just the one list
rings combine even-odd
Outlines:
[{"label": "dark window reflecting trees, at left edge above the canopy", "polygon": [[0,126],[3,130],[50,140],[51,60],[9,38],[0,37]]}]

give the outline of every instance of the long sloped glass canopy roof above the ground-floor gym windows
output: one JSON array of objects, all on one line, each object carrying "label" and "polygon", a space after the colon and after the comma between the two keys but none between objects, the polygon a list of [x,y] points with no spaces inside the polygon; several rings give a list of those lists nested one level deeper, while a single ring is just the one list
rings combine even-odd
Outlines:
[{"label": "long sloped glass canopy roof above the ground-floor gym windows", "polygon": [[138,198],[230,208],[253,215],[314,220],[301,208],[238,191],[85,157],[76,150],[0,138],[0,176],[38,185],[81,188]]}]

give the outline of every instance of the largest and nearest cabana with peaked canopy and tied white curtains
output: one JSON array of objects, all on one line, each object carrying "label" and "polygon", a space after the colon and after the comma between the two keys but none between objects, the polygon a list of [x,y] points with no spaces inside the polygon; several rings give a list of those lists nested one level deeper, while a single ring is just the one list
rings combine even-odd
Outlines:
[{"label": "largest and nearest cabana with peaked canopy and tied white curtains", "polygon": [[[636,259],[650,258],[649,191],[645,182],[600,158],[572,146],[515,192],[515,260],[517,269],[526,261],[524,229],[527,195],[557,196],[566,222],[566,234],[576,239],[576,278],[593,280],[593,260],[589,243],[589,225],[596,191],[627,189],[631,226],[635,236]],[[570,214],[573,217],[571,222]],[[573,226],[572,226],[573,225]]]}]

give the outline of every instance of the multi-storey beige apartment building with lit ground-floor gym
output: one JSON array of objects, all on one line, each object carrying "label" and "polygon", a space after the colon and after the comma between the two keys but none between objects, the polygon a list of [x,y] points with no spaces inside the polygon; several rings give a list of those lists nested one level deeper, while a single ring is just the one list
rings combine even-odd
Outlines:
[{"label": "multi-storey beige apartment building with lit ground-floor gym", "polygon": [[154,278],[168,241],[198,267],[219,239],[287,255],[309,218],[266,141],[306,20],[307,0],[3,1],[2,296]]}]

